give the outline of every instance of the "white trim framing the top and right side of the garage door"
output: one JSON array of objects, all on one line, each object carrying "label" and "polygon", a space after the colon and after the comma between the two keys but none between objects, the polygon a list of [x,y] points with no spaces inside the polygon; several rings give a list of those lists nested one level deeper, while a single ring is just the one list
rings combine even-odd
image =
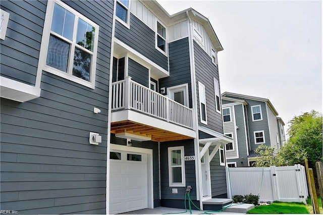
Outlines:
[{"label": "white trim framing the top and right side of the garage door", "polygon": [[117,145],[117,144],[112,144],[112,143],[110,144],[110,149],[147,154],[147,159],[148,159],[147,160],[147,164],[148,164],[148,208],[153,208],[152,149],[125,146],[125,145]]}]

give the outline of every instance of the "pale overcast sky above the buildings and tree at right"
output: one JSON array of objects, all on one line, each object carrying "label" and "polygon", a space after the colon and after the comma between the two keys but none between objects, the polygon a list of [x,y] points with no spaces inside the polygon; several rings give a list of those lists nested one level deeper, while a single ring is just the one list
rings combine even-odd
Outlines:
[{"label": "pale overcast sky above the buildings and tree at right", "polygon": [[169,14],[193,8],[210,21],[221,93],[269,99],[285,122],[322,113],[321,1],[157,0]]}]

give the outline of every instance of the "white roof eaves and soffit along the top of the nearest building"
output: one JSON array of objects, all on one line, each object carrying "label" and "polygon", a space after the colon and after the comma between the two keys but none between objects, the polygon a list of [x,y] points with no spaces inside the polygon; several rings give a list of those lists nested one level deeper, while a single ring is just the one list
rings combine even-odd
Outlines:
[{"label": "white roof eaves and soffit along the top of the nearest building", "polygon": [[156,16],[161,21],[163,21],[163,23],[165,23],[168,26],[171,25],[172,23],[176,23],[180,20],[187,19],[187,15],[188,15],[190,19],[194,19],[195,21],[201,23],[204,26],[209,38],[211,39],[211,41],[212,41],[214,47],[217,49],[217,51],[223,50],[220,40],[219,40],[216,32],[214,31],[213,27],[211,26],[211,23],[209,22],[209,20],[206,17],[204,17],[203,15],[201,15],[200,13],[198,13],[197,11],[195,11],[194,9],[188,8],[184,11],[170,15],[155,0],[147,0],[147,1],[143,1],[143,3],[146,6],[148,6],[156,14]]}]

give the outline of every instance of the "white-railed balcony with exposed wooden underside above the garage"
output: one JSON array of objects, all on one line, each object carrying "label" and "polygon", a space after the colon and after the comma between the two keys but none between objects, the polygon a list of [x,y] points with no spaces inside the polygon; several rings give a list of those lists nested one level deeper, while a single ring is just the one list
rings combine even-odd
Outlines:
[{"label": "white-railed balcony with exposed wooden underside above the garage", "polygon": [[126,77],[112,84],[111,132],[157,142],[192,139],[193,111]]}]

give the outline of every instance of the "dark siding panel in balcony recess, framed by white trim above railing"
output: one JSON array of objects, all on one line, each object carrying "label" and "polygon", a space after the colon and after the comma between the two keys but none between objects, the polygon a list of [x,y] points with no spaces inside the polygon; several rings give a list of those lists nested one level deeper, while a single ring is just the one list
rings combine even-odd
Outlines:
[{"label": "dark siding panel in balcony recess, framed by white trim above railing", "polygon": [[149,87],[149,69],[128,58],[128,76],[145,87]]}]

